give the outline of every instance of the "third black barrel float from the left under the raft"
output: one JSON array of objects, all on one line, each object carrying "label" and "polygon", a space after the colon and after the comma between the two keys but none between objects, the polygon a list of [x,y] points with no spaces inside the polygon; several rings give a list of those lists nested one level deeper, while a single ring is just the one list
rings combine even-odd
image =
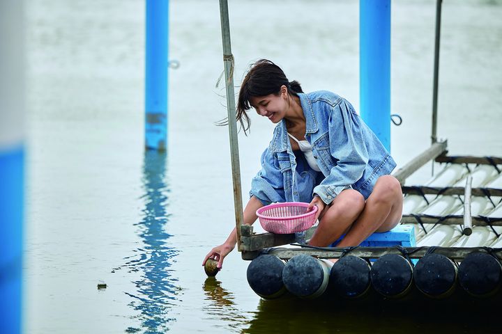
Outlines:
[{"label": "third black barrel float from the left under the raft", "polygon": [[370,264],[357,256],[341,257],[331,267],[330,289],[346,298],[363,296],[370,289]]}]

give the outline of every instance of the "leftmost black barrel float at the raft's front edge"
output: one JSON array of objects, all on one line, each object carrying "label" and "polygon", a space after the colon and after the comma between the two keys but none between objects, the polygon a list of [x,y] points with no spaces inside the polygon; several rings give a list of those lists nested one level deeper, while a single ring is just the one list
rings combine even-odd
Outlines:
[{"label": "leftmost black barrel float at the raft's front edge", "polygon": [[248,266],[248,283],[256,294],[265,299],[280,297],[286,288],[282,282],[284,262],[274,255],[260,255]]}]

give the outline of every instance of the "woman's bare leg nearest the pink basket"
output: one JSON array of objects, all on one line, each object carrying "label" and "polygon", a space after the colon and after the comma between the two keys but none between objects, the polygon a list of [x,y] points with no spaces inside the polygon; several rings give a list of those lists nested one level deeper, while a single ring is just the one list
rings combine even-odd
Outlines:
[{"label": "woman's bare leg nearest the pink basket", "polygon": [[346,232],[365,207],[363,195],[353,189],[345,189],[325,207],[319,226],[310,239],[312,246],[326,247]]}]

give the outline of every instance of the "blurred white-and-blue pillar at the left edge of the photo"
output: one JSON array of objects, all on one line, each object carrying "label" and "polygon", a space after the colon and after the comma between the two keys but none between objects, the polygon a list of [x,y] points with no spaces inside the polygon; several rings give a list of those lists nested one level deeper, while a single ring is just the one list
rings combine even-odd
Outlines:
[{"label": "blurred white-and-blue pillar at the left edge of the photo", "polygon": [[24,197],[23,1],[0,1],[0,333],[21,333]]}]

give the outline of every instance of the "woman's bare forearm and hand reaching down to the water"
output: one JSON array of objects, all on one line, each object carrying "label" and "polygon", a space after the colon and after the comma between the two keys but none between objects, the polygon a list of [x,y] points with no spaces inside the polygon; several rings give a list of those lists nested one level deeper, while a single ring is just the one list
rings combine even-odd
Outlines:
[{"label": "woman's bare forearm and hand reaching down to the water", "polygon": [[[252,225],[254,221],[256,221],[257,219],[256,211],[260,207],[263,207],[261,202],[255,196],[252,196],[243,212],[243,218],[244,218],[243,224]],[[211,251],[204,258],[202,265],[204,266],[204,264],[206,264],[206,261],[211,258],[218,261],[217,267],[218,269],[221,269],[223,260],[235,248],[236,243],[237,243],[237,232],[236,228],[234,228],[234,230],[230,232],[229,236],[227,237],[227,240],[225,240],[223,244],[211,249]]]}]

